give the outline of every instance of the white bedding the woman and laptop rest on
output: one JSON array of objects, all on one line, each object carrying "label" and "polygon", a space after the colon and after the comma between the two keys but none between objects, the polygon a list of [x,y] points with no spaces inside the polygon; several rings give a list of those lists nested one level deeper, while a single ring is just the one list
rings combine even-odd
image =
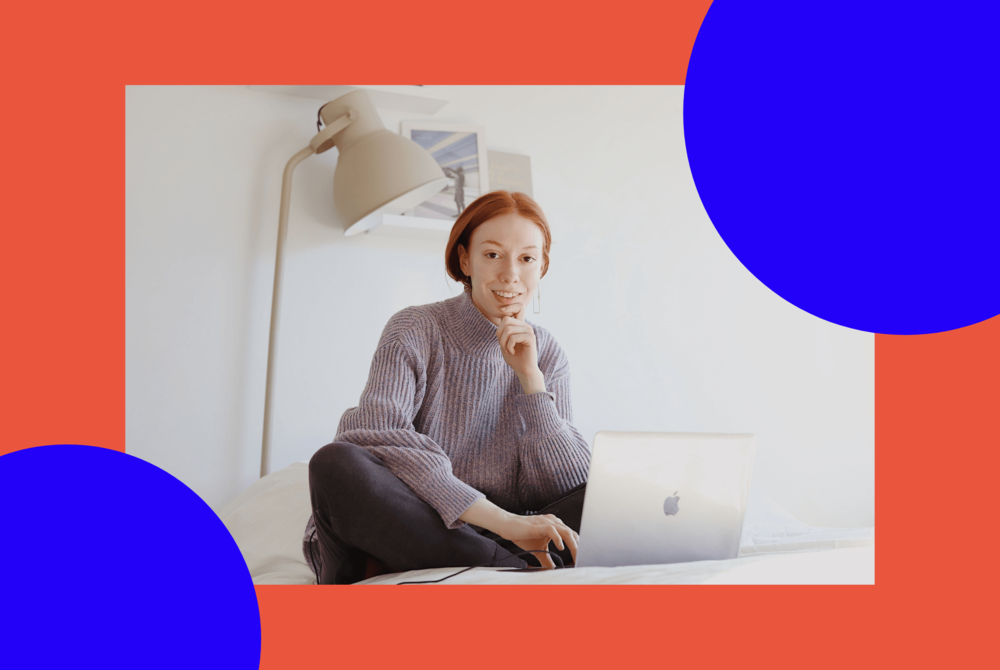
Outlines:
[{"label": "white bedding the woman and laptop rest on", "polygon": [[[310,513],[308,464],[302,462],[258,480],[219,516],[243,552],[254,584],[315,584],[302,557]],[[728,561],[541,572],[474,568],[442,584],[875,583],[874,528],[809,526],[753,491],[740,544],[740,557]],[[436,580],[459,570],[412,570],[360,583]]]}]

